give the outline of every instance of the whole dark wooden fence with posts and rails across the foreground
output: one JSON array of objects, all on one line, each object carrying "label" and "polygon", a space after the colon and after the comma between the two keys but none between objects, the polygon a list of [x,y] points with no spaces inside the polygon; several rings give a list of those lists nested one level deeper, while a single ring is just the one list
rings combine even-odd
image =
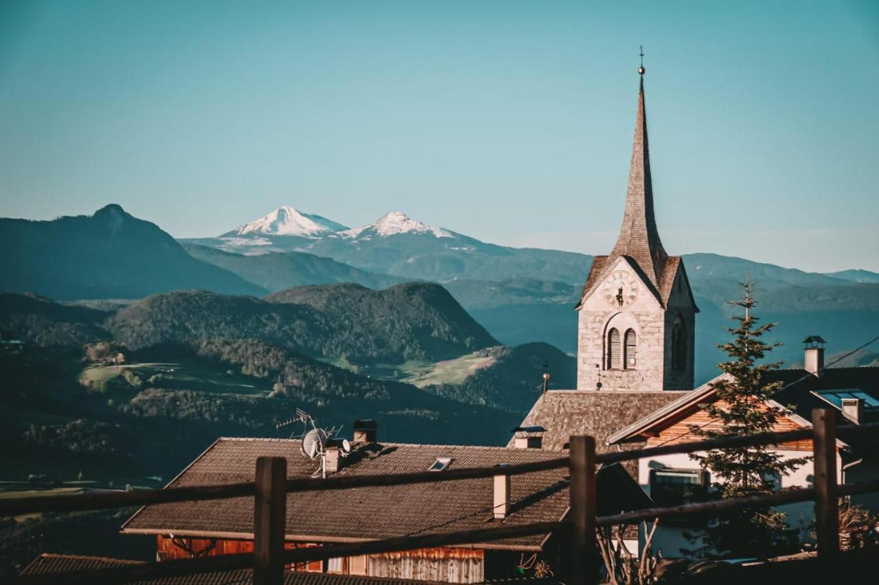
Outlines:
[{"label": "whole dark wooden fence with posts and rails across the foreground", "polygon": [[[423,483],[427,481],[487,478],[498,474],[497,467],[448,470],[443,473],[403,473],[361,477],[336,477],[326,480],[287,480],[287,461],[283,458],[260,458],[257,462],[256,481],[252,484],[230,484],[200,488],[169,488],[150,490],[144,494],[126,493],[108,495],[55,496],[53,501],[63,499],[60,506],[53,506],[48,498],[16,498],[0,502],[0,516],[25,511],[68,511],[73,509],[119,508],[146,503],[183,502],[188,500],[217,499],[255,495],[254,498],[254,553],[231,554],[186,560],[167,560],[141,565],[127,565],[107,569],[77,571],[64,574],[27,575],[12,583],[119,583],[147,581],[171,576],[215,573],[253,567],[254,583],[278,585],[283,582],[284,566],[311,560],[326,560],[361,554],[391,553],[396,551],[429,548],[433,546],[474,545],[500,538],[568,532],[570,533],[570,575],[568,583],[585,585],[598,579],[598,555],[594,549],[596,526],[634,524],[666,516],[708,515],[717,516],[732,511],[778,506],[793,502],[816,502],[817,553],[825,564],[839,553],[839,495],[854,495],[879,491],[879,480],[858,484],[837,485],[835,411],[819,408],[813,411],[812,429],[790,433],[764,433],[752,437],[720,437],[690,444],[666,445],[647,449],[605,453],[597,455],[592,437],[570,437],[569,457],[549,459],[540,463],[507,466],[504,473],[533,473],[560,466],[570,466],[570,514],[561,522],[500,526],[476,531],[427,534],[416,537],[387,538],[344,545],[326,545],[293,550],[284,549],[287,492],[307,489],[340,489],[391,485],[396,483]],[[879,430],[879,424],[861,427],[840,427],[840,434],[871,433]],[[769,495],[730,498],[721,501],[699,502],[680,506],[651,508],[616,514],[595,516],[596,466],[602,462],[640,459],[660,454],[705,451],[723,446],[748,446],[756,444],[781,444],[789,440],[812,438],[815,461],[814,488],[789,489]],[[396,479],[396,481],[395,481]],[[164,495],[171,493],[171,495]],[[132,496],[140,495],[140,498]],[[100,496],[100,497],[98,497]],[[124,496],[124,497],[120,497]],[[27,502],[25,502],[27,501]],[[80,503],[76,503],[79,501]],[[105,505],[99,505],[99,504]],[[10,512],[12,510],[12,512]]]}]

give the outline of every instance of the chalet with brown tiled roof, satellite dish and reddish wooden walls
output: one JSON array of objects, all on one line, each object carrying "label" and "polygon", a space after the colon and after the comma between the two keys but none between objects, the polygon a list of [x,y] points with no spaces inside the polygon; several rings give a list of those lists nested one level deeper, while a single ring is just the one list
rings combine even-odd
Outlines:
[{"label": "chalet with brown tiled roof, satellite dish and reddish wooden walls", "polygon": [[[539,435],[526,430],[532,444]],[[558,452],[535,448],[380,443],[375,430],[358,434],[346,457],[330,456],[327,471],[339,475],[414,473],[515,465],[554,459]],[[319,477],[318,463],[301,452],[298,439],[221,438],[168,485],[251,482],[258,457],[287,459],[287,476]],[[607,514],[650,507],[650,498],[621,466],[605,466],[597,477],[599,509]],[[158,560],[244,553],[252,550],[253,498],[146,506],[122,526],[125,534],[156,537]],[[287,495],[287,548],[352,543],[491,525],[556,522],[568,513],[568,469],[481,480],[350,488]],[[631,543],[636,545],[636,543]],[[294,572],[365,575],[376,578],[471,583],[521,577],[545,563],[563,573],[564,554],[553,534],[507,538],[475,545],[316,561]],[[562,553],[566,551],[562,543]]]}]

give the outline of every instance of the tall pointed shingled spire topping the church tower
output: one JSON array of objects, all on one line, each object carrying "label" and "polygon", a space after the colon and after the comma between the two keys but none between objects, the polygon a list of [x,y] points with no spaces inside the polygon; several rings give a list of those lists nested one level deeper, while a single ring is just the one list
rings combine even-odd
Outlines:
[{"label": "tall pointed shingled spire topping the church tower", "polygon": [[629,256],[636,261],[650,282],[659,288],[668,254],[659,240],[656,218],[653,216],[653,184],[650,180],[650,147],[647,141],[647,112],[644,109],[644,67],[638,68],[641,77],[638,89],[638,110],[635,116],[635,143],[632,163],[628,168],[626,209],[622,216],[620,235],[610,258]]}]

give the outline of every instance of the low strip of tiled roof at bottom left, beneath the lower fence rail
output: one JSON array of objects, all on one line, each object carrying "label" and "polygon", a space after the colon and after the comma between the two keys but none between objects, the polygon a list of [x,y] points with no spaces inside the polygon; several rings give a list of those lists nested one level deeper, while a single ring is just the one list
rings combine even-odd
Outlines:
[{"label": "low strip of tiled roof at bottom left, beneath the lower fence rail", "polygon": [[[139,560],[107,559],[105,557],[84,557],[73,554],[43,553],[21,572],[28,574],[56,574],[69,571],[87,571],[125,565],[142,565]],[[229,583],[251,583],[251,569],[219,571],[216,573],[193,574],[185,577],[163,577],[149,581],[136,581],[142,585],[228,585]],[[384,579],[358,575],[327,573],[285,573],[285,585],[401,585],[403,583],[429,583],[411,579]],[[136,584],[135,584],[136,585]]]}]

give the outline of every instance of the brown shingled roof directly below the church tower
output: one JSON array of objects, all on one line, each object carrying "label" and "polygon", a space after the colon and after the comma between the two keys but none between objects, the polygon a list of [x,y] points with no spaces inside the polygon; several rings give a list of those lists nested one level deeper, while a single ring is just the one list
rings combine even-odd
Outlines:
[{"label": "brown shingled roof directly below the church tower", "polygon": [[[687,393],[549,390],[534,402],[522,426],[539,424],[546,429],[545,450],[561,451],[571,435],[591,435],[595,437],[596,449],[603,452],[611,449],[605,444],[607,437],[684,394]],[[630,470],[631,462],[627,463],[625,467]]]}]

